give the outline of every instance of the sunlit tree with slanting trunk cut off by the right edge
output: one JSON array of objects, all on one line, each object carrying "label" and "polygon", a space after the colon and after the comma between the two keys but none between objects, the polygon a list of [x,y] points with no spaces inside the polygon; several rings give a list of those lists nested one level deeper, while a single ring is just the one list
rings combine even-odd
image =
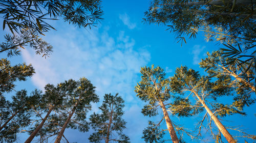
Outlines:
[{"label": "sunlit tree with slanting trunk cut off by the right edge", "polygon": [[237,93],[248,93],[244,99],[249,99],[250,93],[255,93],[255,72],[253,67],[249,67],[245,63],[235,62],[232,65],[227,64],[228,58],[225,58],[221,51],[213,51],[211,54],[207,53],[207,58],[202,59],[199,63],[200,67],[204,68],[210,77],[230,76],[232,78],[229,83],[236,87]]}]

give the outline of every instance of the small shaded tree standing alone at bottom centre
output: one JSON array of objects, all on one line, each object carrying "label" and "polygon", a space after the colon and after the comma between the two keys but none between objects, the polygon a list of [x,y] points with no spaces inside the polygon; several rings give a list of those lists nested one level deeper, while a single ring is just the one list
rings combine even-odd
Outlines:
[{"label": "small shaded tree standing alone at bottom centre", "polygon": [[90,116],[90,125],[96,131],[90,135],[90,142],[130,142],[130,138],[122,133],[126,122],[122,119],[124,100],[121,96],[105,94],[104,101],[99,109],[102,113],[93,113]]}]

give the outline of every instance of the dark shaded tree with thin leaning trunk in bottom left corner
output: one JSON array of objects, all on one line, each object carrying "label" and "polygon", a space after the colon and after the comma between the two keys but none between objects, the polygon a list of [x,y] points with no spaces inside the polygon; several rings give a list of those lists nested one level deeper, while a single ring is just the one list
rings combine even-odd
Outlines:
[{"label": "dark shaded tree with thin leaning trunk in bottom left corner", "polygon": [[1,98],[0,142],[15,142],[16,134],[30,124],[31,107],[38,97],[27,96],[27,91],[18,91],[12,96],[12,102]]}]

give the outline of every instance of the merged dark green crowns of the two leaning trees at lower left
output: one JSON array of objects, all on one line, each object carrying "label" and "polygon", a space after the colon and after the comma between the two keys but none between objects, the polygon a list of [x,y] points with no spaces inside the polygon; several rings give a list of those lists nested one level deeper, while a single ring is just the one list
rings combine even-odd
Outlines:
[{"label": "merged dark green crowns of the two leaning trees at lower left", "polygon": [[95,94],[95,87],[90,80],[86,78],[80,78],[78,81],[70,79],[58,83],[56,87],[47,84],[45,90],[40,101],[40,108],[48,111],[50,106],[55,105],[55,112],[48,117],[47,123],[37,134],[41,137],[41,141],[47,140],[49,136],[57,135],[73,111],[66,128],[78,129],[81,132],[89,130],[89,123],[86,121],[87,112],[91,110],[92,102],[99,101]]}]

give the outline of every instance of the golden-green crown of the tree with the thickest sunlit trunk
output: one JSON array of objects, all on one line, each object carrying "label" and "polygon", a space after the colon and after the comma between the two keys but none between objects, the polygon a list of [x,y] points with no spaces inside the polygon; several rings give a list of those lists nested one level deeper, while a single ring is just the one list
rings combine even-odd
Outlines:
[{"label": "golden-green crown of the tree with the thickest sunlit trunk", "polygon": [[[218,83],[220,83],[222,86],[221,90],[216,90],[219,87]],[[222,117],[226,115],[232,115],[233,113],[241,113],[244,115],[244,112],[241,112],[242,109],[240,106],[234,106],[233,104],[223,105],[217,101],[217,97],[233,94],[228,86],[223,87],[223,82],[219,82],[218,80],[216,82],[212,82],[210,77],[201,76],[197,71],[193,69],[187,69],[187,67],[182,66],[177,68],[175,75],[170,78],[170,87],[172,92],[178,94],[184,94],[185,92],[197,93],[204,102],[211,105],[212,109],[216,111],[216,115],[218,116]],[[194,94],[193,96],[196,95]],[[198,106],[198,103],[194,104],[195,106]]]}]

